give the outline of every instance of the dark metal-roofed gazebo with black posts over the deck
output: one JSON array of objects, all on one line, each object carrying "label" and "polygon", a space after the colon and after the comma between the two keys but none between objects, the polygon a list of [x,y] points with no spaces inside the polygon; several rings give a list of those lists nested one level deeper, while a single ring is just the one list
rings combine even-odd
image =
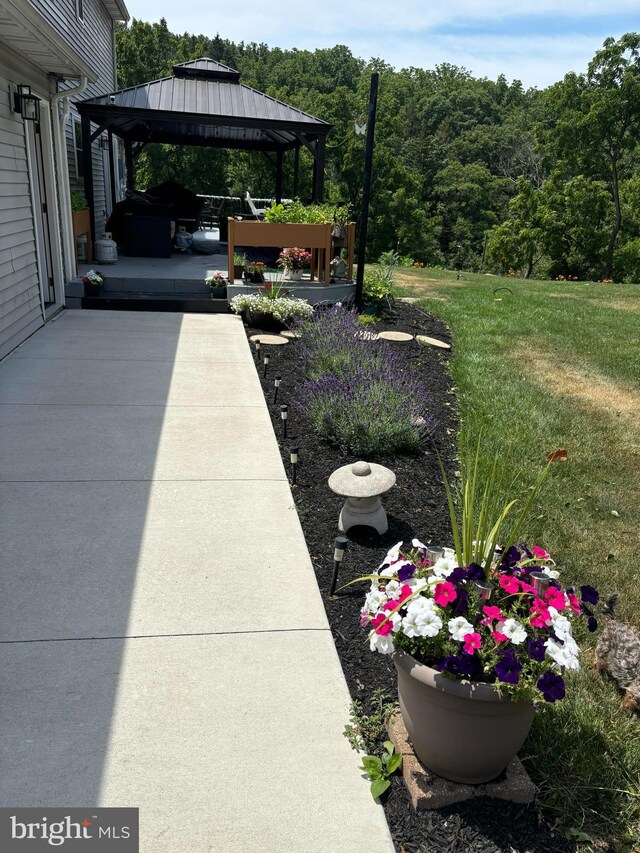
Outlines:
[{"label": "dark metal-roofed gazebo with black posts over the deck", "polygon": [[173,66],[173,75],[90,98],[77,104],[82,121],[85,195],[95,239],[91,143],[109,137],[109,173],[115,193],[113,135],[124,141],[127,183],[133,189],[133,158],[150,142],[262,151],[273,156],[275,198],[282,198],[283,162],[294,152],[293,195],[298,192],[300,149],[313,157],[314,201],[324,188],[325,141],[331,125],[240,82],[240,73],[202,57]]}]

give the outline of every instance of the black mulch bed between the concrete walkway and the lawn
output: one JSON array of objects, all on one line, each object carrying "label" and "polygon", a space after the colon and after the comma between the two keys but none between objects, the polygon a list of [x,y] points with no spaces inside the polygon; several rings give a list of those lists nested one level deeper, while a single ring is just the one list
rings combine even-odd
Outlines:
[{"label": "black mulch bed between the concrete walkway and the lawn", "polygon": [[[398,302],[381,322],[369,326],[372,331],[396,330],[426,334],[451,342],[447,328],[435,317],[408,303]],[[262,329],[248,328],[251,336]],[[418,457],[377,457],[367,461],[391,468],[397,483],[383,496],[389,530],[379,536],[363,527],[348,533],[349,547],[342,563],[338,586],[369,574],[396,542],[409,542],[414,536],[425,543],[448,545],[450,526],[437,448],[448,473],[457,468],[458,415],[452,380],[448,370],[449,353],[428,347],[380,342],[381,346],[401,349],[419,371],[430,391],[432,417],[437,426],[433,444],[426,445]],[[289,448],[299,448],[297,485],[292,488],[302,529],[315,568],[327,617],[342,668],[354,699],[365,708],[371,693],[383,688],[396,695],[396,674],[391,661],[369,651],[365,633],[359,626],[359,612],[366,584],[355,585],[329,598],[333,574],[333,540],[339,534],[338,515],[343,499],[330,491],[329,475],[341,465],[356,462],[357,457],[343,454],[339,448],[315,435],[308,422],[292,405],[302,374],[296,357],[295,342],[284,347],[269,347],[271,356],[267,377],[263,365],[259,376],[280,445],[282,459],[290,471]],[[264,352],[264,349],[263,349]],[[273,405],[274,377],[282,377],[278,403]],[[289,404],[288,438],[282,438],[280,404]],[[345,724],[347,720],[345,720]],[[551,832],[541,823],[535,808],[478,798],[447,809],[417,815],[409,802],[400,774],[395,774],[385,802],[387,821],[401,853],[514,853],[514,851],[570,851],[574,845]]]}]

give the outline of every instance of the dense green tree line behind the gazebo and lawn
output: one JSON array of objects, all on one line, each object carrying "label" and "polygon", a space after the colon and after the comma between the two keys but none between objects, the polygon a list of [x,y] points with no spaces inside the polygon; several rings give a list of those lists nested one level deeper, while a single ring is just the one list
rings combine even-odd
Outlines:
[{"label": "dense green tree line behind the gazebo and lawn", "polygon": [[[334,127],[329,201],[361,201],[364,124],[380,74],[368,256],[397,251],[429,265],[530,277],[640,281],[640,35],[607,39],[582,74],[544,89],[473,77],[443,63],[394,70],[348,47],[281,50],[216,35],[177,34],[133,20],[116,33],[124,88],[209,56],[242,82]],[[303,151],[300,196],[311,193]],[[189,189],[255,197],[274,192],[259,152],[149,145],[138,186],[178,179]],[[285,158],[290,194],[293,157]]]}]

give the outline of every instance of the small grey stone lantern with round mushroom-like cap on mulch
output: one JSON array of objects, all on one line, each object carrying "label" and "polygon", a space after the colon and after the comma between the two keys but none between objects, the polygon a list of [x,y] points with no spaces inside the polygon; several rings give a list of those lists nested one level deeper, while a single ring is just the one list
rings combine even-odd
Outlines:
[{"label": "small grey stone lantern with round mushroom-like cap on mulch", "polygon": [[346,533],[351,527],[362,524],[373,527],[380,534],[386,533],[389,523],[380,495],[388,492],[395,482],[393,471],[375,462],[356,462],[334,471],[329,477],[329,488],[346,498],[338,529]]}]

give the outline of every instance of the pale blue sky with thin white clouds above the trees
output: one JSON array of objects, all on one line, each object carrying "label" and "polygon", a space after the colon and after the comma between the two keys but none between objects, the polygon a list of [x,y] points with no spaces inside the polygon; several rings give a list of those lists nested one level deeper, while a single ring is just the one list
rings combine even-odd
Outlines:
[{"label": "pale blue sky with thin white clouds above the trees", "polygon": [[[315,50],[346,44],[394,68],[442,62],[544,88],[586,71],[608,36],[640,30],[640,0],[125,0],[173,32]],[[212,57],[216,59],[217,57]]]}]

